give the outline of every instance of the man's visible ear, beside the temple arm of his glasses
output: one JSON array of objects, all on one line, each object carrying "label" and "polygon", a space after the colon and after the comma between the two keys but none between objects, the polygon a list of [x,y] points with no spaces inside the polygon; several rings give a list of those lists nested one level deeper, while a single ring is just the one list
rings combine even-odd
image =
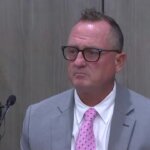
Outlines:
[{"label": "man's visible ear, beside the temple arm of his glasses", "polygon": [[125,64],[126,58],[127,58],[127,56],[126,56],[125,52],[121,52],[116,55],[116,58],[115,58],[116,73],[118,73],[122,70],[122,68]]}]

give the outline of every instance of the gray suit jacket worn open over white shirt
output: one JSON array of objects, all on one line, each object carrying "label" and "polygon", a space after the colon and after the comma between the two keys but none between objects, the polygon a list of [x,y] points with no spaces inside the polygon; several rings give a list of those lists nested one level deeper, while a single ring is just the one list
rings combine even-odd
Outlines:
[{"label": "gray suit jacket worn open over white shirt", "polygon": [[[21,150],[71,150],[73,89],[29,106]],[[108,150],[150,150],[150,100],[117,85]]]}]

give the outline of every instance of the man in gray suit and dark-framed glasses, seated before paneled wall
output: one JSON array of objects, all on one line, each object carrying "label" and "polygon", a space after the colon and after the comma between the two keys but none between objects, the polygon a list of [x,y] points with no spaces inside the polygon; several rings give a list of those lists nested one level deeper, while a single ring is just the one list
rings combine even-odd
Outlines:
[{"label": "man in gray suit and dark-framed glasses, seated before paneled wall", "polygon": [[150,100],[115,80],[122,49],[118,24],[85,10],[62,46],[74,89],[28,108],[21,149],[150,150]]}]

